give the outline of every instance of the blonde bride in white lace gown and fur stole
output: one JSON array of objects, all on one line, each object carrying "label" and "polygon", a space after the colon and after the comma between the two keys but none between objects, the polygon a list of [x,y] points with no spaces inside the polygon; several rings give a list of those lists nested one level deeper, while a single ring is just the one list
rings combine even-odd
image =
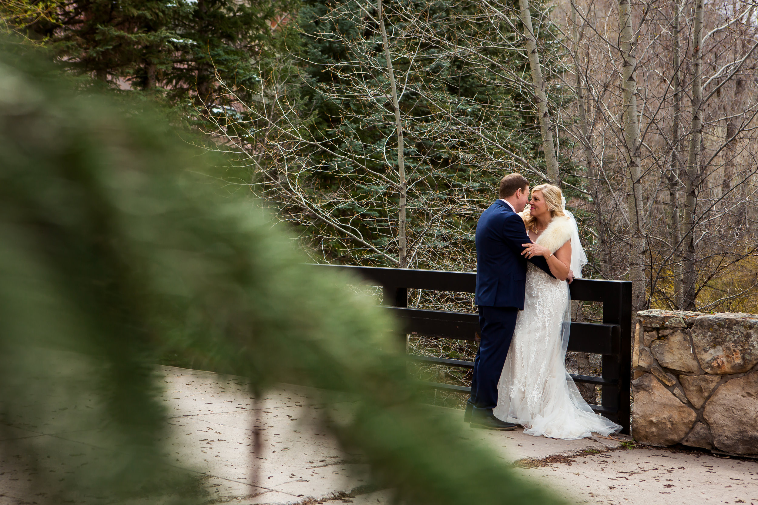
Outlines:
[{"label": "blonde bride in white lace gown and fur stole", "polygon": [[[556,186],[537,185],[528,209],[519,213],[534,242],[525,244],[522,254],[555,256],[559,261],[550,262],[550,271],[563,279],[569,270],[581,277],[587,263],[576,221],[564,202]],[[528,435],[574,440],[622,429],[592,411],[566,372],[570,305],[568,284],[528,263],[524,310],[516,319],[493,410],[498,419],[524,426]]]}]

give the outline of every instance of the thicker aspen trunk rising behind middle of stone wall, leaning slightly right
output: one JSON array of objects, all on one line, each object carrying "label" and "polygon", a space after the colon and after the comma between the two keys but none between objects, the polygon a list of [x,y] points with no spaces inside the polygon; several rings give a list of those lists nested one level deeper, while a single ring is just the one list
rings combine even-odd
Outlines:
[{"label": "thicker aspen trunk rising behind middle of stone wall, leaning slightly right", "polygon": [[697,189],[700,185],[700,143],[703,136],[703,118],[700,106],[703,101],[703,0],[694,0],[692,23],[693,59],[692,70],[692,118],[690,145],[687,157],[687,175],[684,177],[684,254],[682,264],[682,308],[695,308],[697,274],[695,272],[695,211]]}]

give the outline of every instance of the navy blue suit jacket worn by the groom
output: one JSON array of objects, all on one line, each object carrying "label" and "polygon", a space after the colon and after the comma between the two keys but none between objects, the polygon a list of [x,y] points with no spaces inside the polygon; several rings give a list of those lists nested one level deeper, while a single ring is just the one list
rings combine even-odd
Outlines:
[{"label": "navy blue suit jacket worn by the groom", "polygon": [[544,257],[526,260],[521,255],[522,244],[529,242],[524,221],[509,204],[496,200],[484,210],[476,225],[475,304],[524,310],[526,262],[553,276]]}]

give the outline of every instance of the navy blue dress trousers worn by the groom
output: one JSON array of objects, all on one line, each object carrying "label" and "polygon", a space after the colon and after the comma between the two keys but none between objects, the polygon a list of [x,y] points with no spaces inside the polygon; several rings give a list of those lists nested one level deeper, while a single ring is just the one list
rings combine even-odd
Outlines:
[{"label": "navy blue dress trousers worn by the groom", "polygon": [[479,307],[481,342],[474,360],[471,398],[474,414],[492,416],[497,407],[497,382],[511,347],[516,326],[516,307]]}]

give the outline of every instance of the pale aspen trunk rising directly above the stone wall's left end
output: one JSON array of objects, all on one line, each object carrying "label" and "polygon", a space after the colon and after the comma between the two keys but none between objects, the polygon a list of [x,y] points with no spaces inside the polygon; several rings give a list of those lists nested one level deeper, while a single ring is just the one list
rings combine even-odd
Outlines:
[{"label": "pale aspen trunk rising directly above the stone wall's left end", "polygon": [[629,278],[632,287],[632,307],[642,310],[646,304],[645,294],[645,233],[642,203],[642,173],[640,167],[640,123],[637,119],[637,69],[636,41],[631,27],[631,0],[619,1],[619,50],[622,63],[622,124],[625,141],[624,156],[628,170],[629,225],[631,227],[632,254],[629,257]]}]

